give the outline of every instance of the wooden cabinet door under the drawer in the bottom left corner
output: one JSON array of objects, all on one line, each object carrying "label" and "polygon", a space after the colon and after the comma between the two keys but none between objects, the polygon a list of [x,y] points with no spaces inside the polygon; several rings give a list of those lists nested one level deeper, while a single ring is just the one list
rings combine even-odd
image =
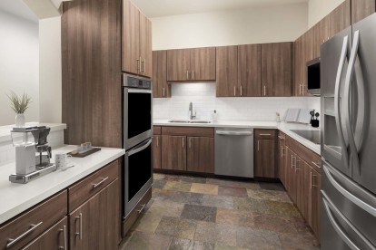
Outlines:
[{"label": "wooden cabinet door under the drawer in the bottom left corner", "polygon": [[68,249],[68,219],[66,216],[22,249]]}]

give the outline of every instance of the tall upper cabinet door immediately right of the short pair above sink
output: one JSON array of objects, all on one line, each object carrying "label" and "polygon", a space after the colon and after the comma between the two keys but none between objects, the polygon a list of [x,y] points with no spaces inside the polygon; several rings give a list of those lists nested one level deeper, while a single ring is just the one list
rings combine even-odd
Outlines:
[{"label": "tall upper cabinet door immediately right of the short pair above sink", "polygon": [[215,58],[217,97],[237,96],[238,47],[217,47]]}]

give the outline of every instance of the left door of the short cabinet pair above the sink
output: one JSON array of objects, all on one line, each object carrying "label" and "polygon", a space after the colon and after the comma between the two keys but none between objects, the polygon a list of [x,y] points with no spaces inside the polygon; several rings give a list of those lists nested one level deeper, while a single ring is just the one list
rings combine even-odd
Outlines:
[{"label": "left door of the short cabinet pair above the sink", "polygon": [[191,80],[191,50],[167,51],[167,81]]}]

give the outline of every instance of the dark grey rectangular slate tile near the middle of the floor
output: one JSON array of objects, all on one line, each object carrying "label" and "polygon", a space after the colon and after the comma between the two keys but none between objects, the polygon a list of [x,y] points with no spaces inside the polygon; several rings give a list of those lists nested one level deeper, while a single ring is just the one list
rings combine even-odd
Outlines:
[{"label": "dark grey rectangular slate tile near the middle of the floor", "polygon": [[216,213],[216,207],[185,204],[182,212],[182,217],[200,221],[215,222]]}]

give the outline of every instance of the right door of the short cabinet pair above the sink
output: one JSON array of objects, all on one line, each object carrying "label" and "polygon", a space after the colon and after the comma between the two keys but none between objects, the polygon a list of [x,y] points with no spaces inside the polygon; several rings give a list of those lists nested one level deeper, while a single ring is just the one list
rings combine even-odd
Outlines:
[{"label": "right door of the short cabinet pair above the sink", "polygon": [[191,80],[215,80],[215,48],[191,49]]}]

